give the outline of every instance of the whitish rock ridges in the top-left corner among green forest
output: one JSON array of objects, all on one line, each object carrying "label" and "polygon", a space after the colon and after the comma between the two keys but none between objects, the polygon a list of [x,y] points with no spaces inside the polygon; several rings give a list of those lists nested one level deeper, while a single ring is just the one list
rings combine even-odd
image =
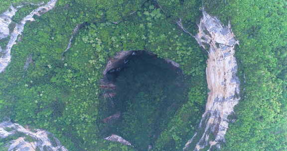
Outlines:
[{"label": "whitish rock ridges in the top-left corner among green forest", "polygon": [[4,71],[4,69],[8,66],[8,64],[11,61],[11,49],[14,44],[16,44],[16,40],[19,35],[22,34],[24,30],[24,26],[27,21],[34,21],[35,19],[33,18],[34,15],[41,16],[43,13],[46,13],[47,11],[51,10],[57,0],[50,0],[46,4],[33,4],[33,5],[39,5],[38,8],[30,12],[27,16],[25,16],[19,23],[15,24],[15,28],[13,31],[10,33],[9,31],[9,24],[12,22],[12,17],[15,15],[16,11],[18,8],[22,7],[17,6],[13,7],[12,5],[10,8],[0,14],[0,40],[3,38],[9,37],[8,44],[6,45],[5,48],[0,48],[1,56],[0,56],[0,73]]}]

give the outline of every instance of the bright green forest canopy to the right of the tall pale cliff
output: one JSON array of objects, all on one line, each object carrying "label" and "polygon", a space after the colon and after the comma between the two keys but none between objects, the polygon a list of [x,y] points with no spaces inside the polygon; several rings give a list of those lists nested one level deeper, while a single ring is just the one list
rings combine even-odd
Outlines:
[{"label": "bright green forest canopy to the right of the tall pale cliff", "polygon": [[[241,100],[222,151],[287,150],[287,3],[284,0],[205,1],[208,10],[230,19]],[[212,9],[215,6],[220,9]]]}]

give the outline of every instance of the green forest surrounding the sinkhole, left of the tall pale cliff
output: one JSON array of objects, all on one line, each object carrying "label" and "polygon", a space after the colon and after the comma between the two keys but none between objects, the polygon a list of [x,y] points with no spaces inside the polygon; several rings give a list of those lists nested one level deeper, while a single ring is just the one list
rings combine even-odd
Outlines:
[{"label": "green forest surrounding the sinkhole, left of the tall pale cliff", "polygon": [[[193,4],[197,3],[193,1]],[[169,8],[170,4],[161,7]],[[190,17],[186,23],[195,26],[199,10],[185,12]],[[153,96],[158,102],[165,100],[164,95],[168,93],[161,92],[160,83],[159,87],[150,85],[149,91],[135,92],[133,101],[147,103],[131,105],[123,114],[124,122],[117,134],[135,143],[137,149],[146,148],[150,142],[141,142],[144,137],[139,141],[137,128],[141,122],[136,119],[148,117],[151,111],[158,116],[151,116],[147,122],[160,125],[156,138],[151,141],[154,151],[179,150],[192,137],[207,96],[206,55],[191,36],[177,27],[175,16],[162,11],[154,1],[59,0],[53,10],[35,18],[36,21],[26,24],[21,40],[12,49],[12,62],[1,74],[1,117],[45,129],[69,151],[94,151],[95,148],[131,151],[130,147],[103,140],[107,135],[103,132],[111,126],[102,120],[110,116],[111,111],[103,103],[107,100],[101,96],[99,80],[108,59],[116,52],[146,50],[180,64],[184,76],[188,77],[182,91],[185,93],[174,95],[173,99],[180,98],[176,100],[179,103],[173,104],[176,108],[170,107],[163,116],[158,109],[162,103],[150,102]],[[81,29],[71,49],[63,54],[77,24],[82,24]],[[195,31],[194,28],[192,32]],[[24,68],[27,58],[32,61]],[[141,85],[144,80],[134,81]],[[147,95],[149,92],[153,94]],[[169,105],[173,99],[167,101]],[[133,115],[139,108],[143,112]],[[144,131],[150,134],[154,130]]]}]

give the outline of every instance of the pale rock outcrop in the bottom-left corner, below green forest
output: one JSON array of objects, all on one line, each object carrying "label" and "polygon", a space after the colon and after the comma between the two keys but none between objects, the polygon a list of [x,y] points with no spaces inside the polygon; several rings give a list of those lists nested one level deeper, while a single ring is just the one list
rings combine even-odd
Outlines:
[{"label": "pale rock outcrop in the bottom-left corner, below green forest", "polygon": [[51,133],[10,121],[0,123],[0,141],[5,142],[7,151],[68,151]]}]

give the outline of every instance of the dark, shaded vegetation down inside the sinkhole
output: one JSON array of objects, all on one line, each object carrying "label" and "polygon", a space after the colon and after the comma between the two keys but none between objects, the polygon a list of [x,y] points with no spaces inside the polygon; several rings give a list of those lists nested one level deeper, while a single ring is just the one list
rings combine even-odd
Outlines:
[{"label": "dark, shaded vegetation down inside the sinkhole", "polygon": [[[191,76],[183,75],[162,59],[141,52],[132,56],[123,71],[116,75],[117,95],[112,100],[116,112],[123,113],[123,120],[113,124],[109,131],[129,140],[138,151],[147,151],[147,147],[154,146],[160,133],[167,128],[176,110],[187,102]],[[189,117],[189,122],[196,122],[198,117],[200,114]],[[193,134],[189,129],[183,131]],[[174,139],[189,139],[189,135],[172,135]],[[174,145],[182,147],[183,144],[177,144],[180,140],[175,141]],[[164,148],[175,150],[169,146]]]}]

